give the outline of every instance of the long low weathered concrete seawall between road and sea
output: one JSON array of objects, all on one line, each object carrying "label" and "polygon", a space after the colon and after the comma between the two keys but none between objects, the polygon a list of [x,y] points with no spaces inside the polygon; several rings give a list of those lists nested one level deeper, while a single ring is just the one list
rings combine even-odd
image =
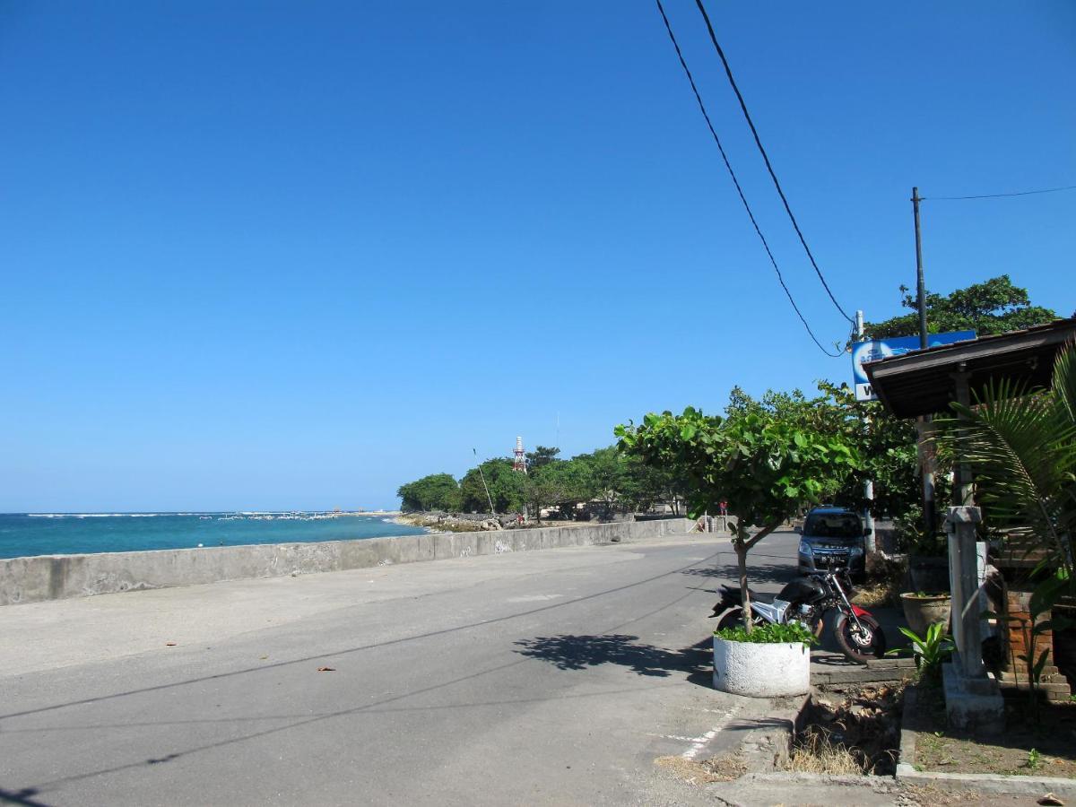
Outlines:
[{"label": "long low weathered concrete seawall between road and sea", "polygon": [[261,543],[154,552],[0,560],[0,606],[243,578],[342,571],[450,557],[592,547],[683,535],[681,519],[489,533],[430,533],[317,543]]}]

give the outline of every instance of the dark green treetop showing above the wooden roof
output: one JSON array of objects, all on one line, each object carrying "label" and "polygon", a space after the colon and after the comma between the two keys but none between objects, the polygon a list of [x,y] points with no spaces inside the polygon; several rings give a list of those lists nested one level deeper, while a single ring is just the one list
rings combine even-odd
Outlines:
[{"label": "dark green treetop showing above the wooden roof", "polygon": [[[879,323],[864,323],[868,339],[915,336],[919,332],[919,306],[907,286],[901,286],[901,305],[914,313]],[[1028,289],[1014,286],[1007,274],[991,278],[967,288],[958,288],[947,297],[928,293],[926,326],[932,334],[949,330],[975,330],[979,336],[1020,330],[1058,318],[1054,311],[1032,306]]]}]

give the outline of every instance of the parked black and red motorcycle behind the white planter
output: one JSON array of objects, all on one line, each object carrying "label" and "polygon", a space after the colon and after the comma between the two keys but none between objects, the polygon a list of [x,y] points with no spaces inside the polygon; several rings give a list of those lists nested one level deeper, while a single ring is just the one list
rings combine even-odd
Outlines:
[{"label": "parked black and red motorcycle behind the white planter", "polygon": [[[843,569],[812,571],[785,585],[775,596],[750,592],[751,614],[754,620],[776,624],[799,622],[816,636],[822,634],[827,611],[837,610],[833,623],[834,638],[840,652],[858,664],[880,659],[886,653],[886,634],[869,611],[852,605],[840,579]],[[845,583],[848,584],[847,577]],[[721,601],[713,607],[713,617],[720,617],[718,629],[733,627],[744,620],[744,597],[739,587],[721,586]]]}]

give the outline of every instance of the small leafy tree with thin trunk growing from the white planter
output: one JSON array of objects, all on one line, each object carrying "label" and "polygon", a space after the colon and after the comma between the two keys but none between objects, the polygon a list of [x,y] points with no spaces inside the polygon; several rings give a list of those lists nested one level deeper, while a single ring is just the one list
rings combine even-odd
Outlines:
[{"label": "small leafy tree with thin trunk growing from the white planter", "polygon": [[[688,407],[680,415],[649,413],[642,424],[619,425],[614,431],[625,452],[682,472],[692,518],[717,509],[721,500],[728,502],[748,632],[748,552],[799,508],[839,490],[860,465],[844,435],[773,412],[723,419]],[[750,525],[759,527],[754,535],[748,532]]]}]

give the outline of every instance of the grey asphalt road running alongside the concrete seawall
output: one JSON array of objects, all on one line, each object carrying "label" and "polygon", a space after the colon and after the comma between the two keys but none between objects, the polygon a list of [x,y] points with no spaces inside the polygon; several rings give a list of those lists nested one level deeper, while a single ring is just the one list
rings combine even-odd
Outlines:
[{"label": "grey asphalt road running alongside the concrete seawall", "polygon": [[709,680],[734,568],[685,536],[0,608],[0,802],[683,803],[653,760],[744,708]]}]

